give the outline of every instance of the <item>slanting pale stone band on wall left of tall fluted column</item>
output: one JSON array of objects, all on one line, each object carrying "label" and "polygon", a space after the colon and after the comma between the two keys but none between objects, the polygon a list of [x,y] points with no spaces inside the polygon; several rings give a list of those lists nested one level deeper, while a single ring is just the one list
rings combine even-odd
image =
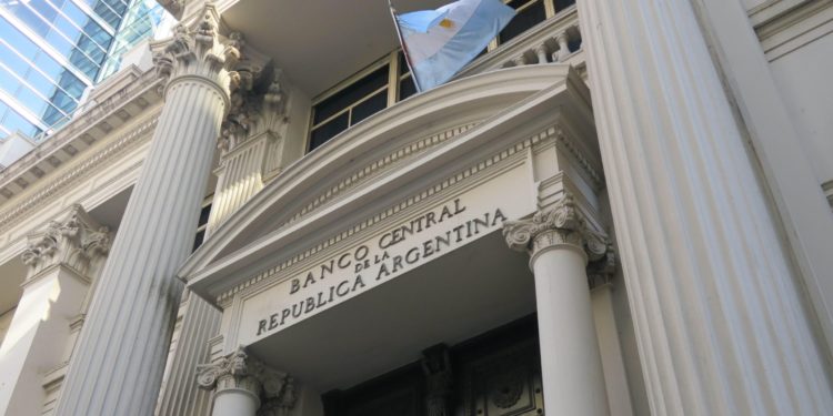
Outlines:
[{"label": "slanting pale stone band on wall left of tall fluted column", "polygon": [[74,166],[71,171],[62,174],[60,177],[56,177],[51,181],[50,185],[46,186],[41,191],[33,195],[30,195],[23,201],[9,206],[8,209],[0,212],[0,232],[7,231],[11,225],[16,223],[21,216],[27,215],[32,210],[42,206],[44,203],[49,203],[56,197],[62,195],[72,189],[73,185],[80,181],[86,180],[91,174],[97,172],[100,168],[107,166],[108,163],[123,153],[134,149],[137,145],[150,140],[153,129],[157,125],[158,113],[152,115],[151,120],[148,120],[130,132],[122,134],[120,138],[108,144],[104,149],[90,155],[84,162]]}]

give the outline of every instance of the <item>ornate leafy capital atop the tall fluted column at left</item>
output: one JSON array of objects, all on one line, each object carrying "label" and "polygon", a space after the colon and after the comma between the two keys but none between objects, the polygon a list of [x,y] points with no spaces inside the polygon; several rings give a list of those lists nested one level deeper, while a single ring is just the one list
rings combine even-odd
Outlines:
[{"label": "ornate leafy capital atop the tall fluted column at left", "polygon": [[157,72],[170,81],[181,77],[198,77],[229,91],[229,71],[240,60],[234,39],[223,43],[218,33],[220,16],[209,2],[202,19],[193,27],[177,24],[173,37],[153,57]]}]

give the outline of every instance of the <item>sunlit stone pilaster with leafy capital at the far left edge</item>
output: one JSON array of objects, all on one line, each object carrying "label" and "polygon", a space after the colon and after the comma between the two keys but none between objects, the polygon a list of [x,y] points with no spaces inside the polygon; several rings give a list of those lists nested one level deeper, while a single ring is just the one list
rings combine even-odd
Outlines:
[{"label": "sunlit stone pilaster with leafy capital at the far left edge", "polygon": [[0,414],[41,414],[47,369],[62,364],[70,323],[110,245],[107,227],[80,205],[29,236],[23,296],[0,348]]}]

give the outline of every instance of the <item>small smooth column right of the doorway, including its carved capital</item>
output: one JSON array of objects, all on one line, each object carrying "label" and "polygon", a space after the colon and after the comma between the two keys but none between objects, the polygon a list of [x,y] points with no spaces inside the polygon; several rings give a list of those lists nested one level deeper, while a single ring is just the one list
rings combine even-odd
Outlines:
[{"label": "small smooth column right of the doorway, including its carved capital", "polygon": [[535,274],[545,413],[609,415],[585,270],[589,256],[605,257],[604,237],[585,226],[569,193],[531,220],[506,222],[503,235],[530,253]]}]

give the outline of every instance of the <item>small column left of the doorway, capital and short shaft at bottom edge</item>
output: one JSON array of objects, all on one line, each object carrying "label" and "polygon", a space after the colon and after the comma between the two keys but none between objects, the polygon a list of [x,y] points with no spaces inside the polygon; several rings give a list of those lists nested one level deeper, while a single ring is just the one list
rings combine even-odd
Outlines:
[{"label": "small column left of the doorway, capital and short shaft at bottom edge", "polygon": [[243,347],[201,365],[197,383],[214,392],[212,416],[288,416],[297,399],[291,376],[250,357]]}]

